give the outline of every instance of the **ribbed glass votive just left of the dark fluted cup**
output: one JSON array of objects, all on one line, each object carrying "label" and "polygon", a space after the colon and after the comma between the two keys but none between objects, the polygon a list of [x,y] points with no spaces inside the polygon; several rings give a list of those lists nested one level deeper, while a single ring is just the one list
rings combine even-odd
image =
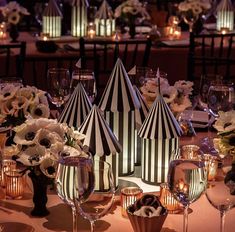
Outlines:
[{"label": "ribbed glass votive just left of the dark fluted cup", "polygon": [[143,190],[139,187],[125,187],[121,189],[121,211],[123,217],[127,217],[127,207],[132,205],[137,199],[141,198],[142,195]]}]

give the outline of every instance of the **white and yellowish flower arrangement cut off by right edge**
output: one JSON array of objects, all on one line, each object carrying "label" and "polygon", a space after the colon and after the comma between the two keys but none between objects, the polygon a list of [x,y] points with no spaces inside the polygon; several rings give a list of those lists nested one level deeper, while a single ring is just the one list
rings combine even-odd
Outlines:
[{"label": "white and yellowish flower arrangement cut off by right edge", "polygon": [[232,155],[235,161],[235,110],[220,111],[214,128],[219,136],[213,140],[215,148],[222,156]]}]

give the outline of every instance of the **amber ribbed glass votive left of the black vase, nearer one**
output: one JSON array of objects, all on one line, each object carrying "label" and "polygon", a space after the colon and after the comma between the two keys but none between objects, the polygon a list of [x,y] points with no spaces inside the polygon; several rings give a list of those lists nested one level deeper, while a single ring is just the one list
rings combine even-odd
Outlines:
[{"label": "amber ribbed glass votive left of the black vase, nearer one", "polygon": [[25,177],[19,170],[5,172],[6,197],[9,199],[21,199],[24,193]]}]

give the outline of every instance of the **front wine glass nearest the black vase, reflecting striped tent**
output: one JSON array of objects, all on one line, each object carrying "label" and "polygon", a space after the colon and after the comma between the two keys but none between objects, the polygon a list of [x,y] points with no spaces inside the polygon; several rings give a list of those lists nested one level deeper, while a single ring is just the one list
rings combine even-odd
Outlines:
[{"label": "front wine glass nearest the black vase, reflecting striped tent", "polygon": [[70,156],[61,158],[55,177],[58,196],[72,208],[73,232],[77,232],[75,197],[85,201],[94,190],[93,161],[90,158]]}]

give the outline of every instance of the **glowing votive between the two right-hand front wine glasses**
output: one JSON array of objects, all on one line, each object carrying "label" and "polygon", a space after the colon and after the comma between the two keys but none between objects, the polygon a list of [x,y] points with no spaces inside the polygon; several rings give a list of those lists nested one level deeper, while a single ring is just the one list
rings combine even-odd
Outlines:
[{"label": "glowing votive between the two right-hand front wine glasses", "polygon": [[215,156],[204,154],[204,162],[207,171],[207,180],[214,180],[218,169],[218,160]]}]

